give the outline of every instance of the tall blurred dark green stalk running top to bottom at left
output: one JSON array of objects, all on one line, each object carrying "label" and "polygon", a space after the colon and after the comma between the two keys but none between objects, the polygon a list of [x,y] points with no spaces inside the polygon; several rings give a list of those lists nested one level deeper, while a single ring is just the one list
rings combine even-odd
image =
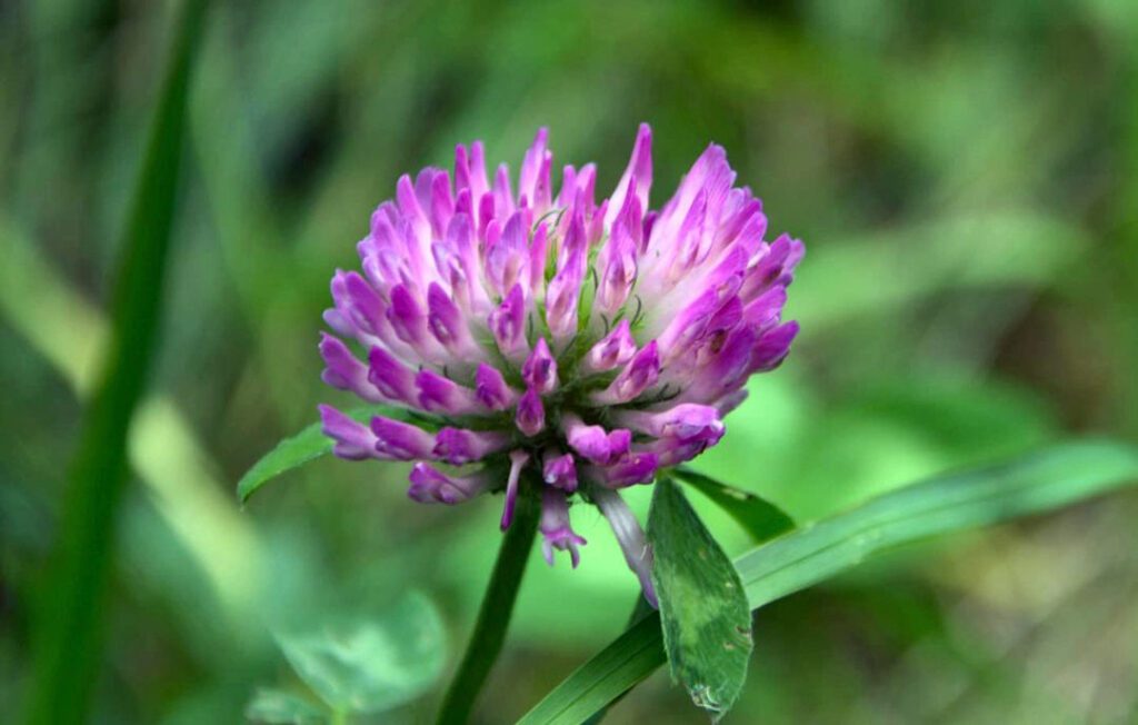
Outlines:
[{"label": "tall blurred dark green stalk running top to bottom at left", "polygon": [[185,0],[132,197],[112,300],[106,365],[84,413],[59,535],[34,623],[32,724],[81,723],[102,659],[102,615],[125,488],[126,435],[142,394],[162,311],[182,156],[190,69],[206,0]]}]

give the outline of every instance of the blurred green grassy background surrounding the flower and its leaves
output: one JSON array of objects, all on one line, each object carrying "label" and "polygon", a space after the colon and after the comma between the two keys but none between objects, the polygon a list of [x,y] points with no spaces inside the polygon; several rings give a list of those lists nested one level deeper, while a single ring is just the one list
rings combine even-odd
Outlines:
[{"label": "blurred green grassy background surrounding the flower and its leaves", "polygon": [[[215,6],[96,722],[238,722],[256,686],[302,689],[272,632],[409,590],[437,602],[456,661],[498,501],[419,506],[398,466],[333,460],[244,511],[233,487],[344,401],[319,380],[330,274],[397,175],[460,141],[517,167],[549,125],[603,189],[648,121],[657,203],[709,141],[727,148],[772,229],[807,242],[803,331],[700,467],[800,520],[1070,435],[1138,436],[1130,0]],[[0,719],[26,685],[172,10],[0,2]],[[1136,514],[1115,495],[765,608],[727,722],[1138,720]],[[481,723],[512,722],[624,625],[635,578],[604,521],[575,517],[582,567],[535,558]],[[374,720],[428,719],[438,690]],[[658,673],[609,722],[703,720]]]}]

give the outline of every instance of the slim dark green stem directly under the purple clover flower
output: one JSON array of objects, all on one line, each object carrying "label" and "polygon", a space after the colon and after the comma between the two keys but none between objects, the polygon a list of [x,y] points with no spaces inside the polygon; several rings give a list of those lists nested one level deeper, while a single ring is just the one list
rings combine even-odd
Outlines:
[{"label": "slim dark green stem directly under the purple clover flower", "polygon": [[521,484],[513,522],[502,538],[494,572],[490,575],[489,586],[478,610],[475,632],[467,644],[459,670],[443,698],[443,707],[437,719],[439,725],[460,725],[470,718],[475,701],[502,652],[502,643],[505,641],[506,627],[510,625],[513,604],[518,599],[521,577],[526,572],[529,551],[534,546],[541,511],[537,486],[528,480],[528,477],[523,478]]}]

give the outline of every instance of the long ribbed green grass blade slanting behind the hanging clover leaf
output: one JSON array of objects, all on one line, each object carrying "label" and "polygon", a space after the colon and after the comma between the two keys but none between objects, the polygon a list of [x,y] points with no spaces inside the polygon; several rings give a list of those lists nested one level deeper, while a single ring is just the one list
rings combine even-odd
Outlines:
[{"label": "long ribbed green grass blade slanting behind the hanging clover leaf", "polygon": [[[752,608],[793,594],[901,544],[1052,511],[1138,480],[1138,447],[1066,443],[1008,463],[948,473],[797,529],[735,560]],[[659,617],[626,631],[521,720],[588,718],[662,665]]]}]

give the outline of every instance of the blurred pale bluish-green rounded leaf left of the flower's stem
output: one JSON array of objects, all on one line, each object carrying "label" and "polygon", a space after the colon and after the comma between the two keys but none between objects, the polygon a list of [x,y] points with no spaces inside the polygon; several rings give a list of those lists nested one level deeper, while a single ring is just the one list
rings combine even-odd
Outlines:
[{"label": "blurred pale bluish-green rounded leaf left of the flower's stem", "polygon": [[277,637],[296,674],[333,710],[389,710],[426,692],[443,672],[443,621],[411,593],[366,619]]}]

